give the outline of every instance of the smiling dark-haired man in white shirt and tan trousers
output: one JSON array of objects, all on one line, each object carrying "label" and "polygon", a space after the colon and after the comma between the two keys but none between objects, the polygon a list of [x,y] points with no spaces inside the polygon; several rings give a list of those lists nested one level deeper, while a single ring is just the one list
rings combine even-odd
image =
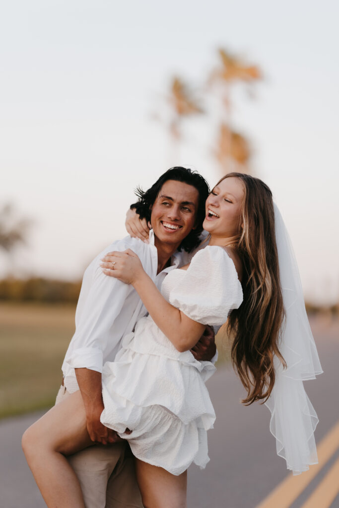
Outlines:
[{"label": "smiling dark-haired man in white shirt and tan trousers", "polygon": [[[63,363],[64,383],[57,402],[80,389],[89,436],[101,443],[69,459],[88,508],[142,507],[129,447],[126,442],[117,442],[116,433],[100,422],[101,372],[106,361],[114,361],[122,337],[133,331],[147,311],[131,285],[103,274],[101,258],[108,250],[132,249],[160,289],[166,274],[187,264],[188,252],[199,244],[208,192],[206,181],[198,173],[171,168],[145,193],[139,192],[137,211],[149,218],[152,227],[149,243],[131,237],[114,242],[85,271],[76,332]],[[211,360],[215,354],[213,336],[203,336],[194,350],[198,360]]]}]

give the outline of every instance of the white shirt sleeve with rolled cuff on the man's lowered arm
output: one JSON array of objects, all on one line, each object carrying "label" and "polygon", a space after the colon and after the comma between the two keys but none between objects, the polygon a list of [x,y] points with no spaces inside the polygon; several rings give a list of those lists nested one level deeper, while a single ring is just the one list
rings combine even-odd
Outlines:
[{"label": "white shirt sleeve with rolled cuff on the man's lowered arm", "polygon": [[72,368],[85,367],[102,372],[105,352],[108,349],[113,350],[116,345],[114,340],[118,341],[117,335],[112,333],[114,322],[118,316],[121,317],[133,287],[105,275],[100,267],[99,257],[93,263],[94,267],[87,268],[94,271],[93,275],[86,279],[85,274],[83,279],[83,285],[86,285],[85,297],[82,298],[80,293],[75,320],[76,331],[64,364],[67,363]]}]

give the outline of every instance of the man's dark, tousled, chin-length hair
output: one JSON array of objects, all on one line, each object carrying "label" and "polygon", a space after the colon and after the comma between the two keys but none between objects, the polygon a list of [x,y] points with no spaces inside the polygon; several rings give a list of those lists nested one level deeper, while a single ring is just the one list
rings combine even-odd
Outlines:
[{"label": "man's dark, tousled, chin-length hair", "polygon": [[193,185],[198,190],[197,227],[192,229],[178,247],[178,250],[184,249],[187,252],[191,252],[192,249],[199,245],[199,236],[202,232],[202,223],[205,218],[205,201],[209,195],[208,183],[197,171],[182,168],[181,166],[168,169],[148,190],[144,191],[139,186],[136,188],[135,194],[138,196],[138,202],[131,205],[131,208],[135,208],[141,219],[150,220],[150,207],[155,203],[162,186],[167,180],[187,183],[188,185]]}]

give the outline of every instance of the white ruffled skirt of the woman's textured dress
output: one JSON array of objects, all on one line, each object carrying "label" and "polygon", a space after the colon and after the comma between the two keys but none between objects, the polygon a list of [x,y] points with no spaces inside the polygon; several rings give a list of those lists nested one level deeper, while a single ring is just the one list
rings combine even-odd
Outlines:
[{"label": "white ruffled skirt of the woman's textured dress", "polygon": [[204,380],[214,370],[190,352],[179,353],[145,317],[136,334],[124,338],[115,361],[104,365],[101,422],[128,439],[144,462],[175,475],[192,462],[204,468],[207,430],[215,420]]}]

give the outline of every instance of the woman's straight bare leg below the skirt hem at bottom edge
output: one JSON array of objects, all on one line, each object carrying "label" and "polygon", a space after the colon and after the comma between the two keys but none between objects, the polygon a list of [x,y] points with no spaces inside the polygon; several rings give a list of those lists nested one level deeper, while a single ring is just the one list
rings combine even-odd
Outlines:
[{"label": "woman's straight bare leg below the skirt hem at bottom edge", "polygon": [[179,476],[136,459],[137,480],[145,508],[186,508],[187,471]]}]

